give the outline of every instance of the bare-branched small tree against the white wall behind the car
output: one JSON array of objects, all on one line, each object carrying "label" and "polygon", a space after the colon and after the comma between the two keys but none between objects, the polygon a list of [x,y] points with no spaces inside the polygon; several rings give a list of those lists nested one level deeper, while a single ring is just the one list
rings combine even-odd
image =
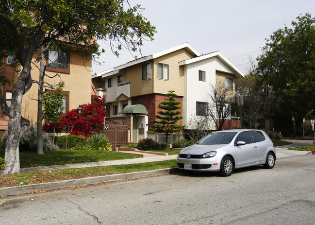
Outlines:
[{"label": "bare-branched small tree against the white wall behind the car", "polygon": [[226,88],[224,82],[216,80],[216,87],[210,84],[207,97],[207,116],[214,121],[217,130],[222,130],[225,121],[231,116],[234,92]]}]

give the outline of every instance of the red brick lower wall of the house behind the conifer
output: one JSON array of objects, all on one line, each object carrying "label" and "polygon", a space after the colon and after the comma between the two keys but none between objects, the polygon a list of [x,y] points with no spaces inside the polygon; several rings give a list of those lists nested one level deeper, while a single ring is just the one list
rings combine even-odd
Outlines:
[{"label": "red brick lower wall of the house behind the conifer", "polygon": [[[149,128],[153,125],[151,122],[152,120],[155,120],[155,115],[160,110],[158,108],[158,105],[168,99],[164,94],[149,94],[149,95],[142,95],[133,97],[132,104],[143,104],[148,111],[148,119],[149,119]],[[175,100],[180,102],[179,106],[181,107],[179,111],[182,113],[182,97],[177,96],[175,97]],[[182,115],[181,115],[182,116]],[[179,121],[180,125],[182,125],[182,120]]]}]

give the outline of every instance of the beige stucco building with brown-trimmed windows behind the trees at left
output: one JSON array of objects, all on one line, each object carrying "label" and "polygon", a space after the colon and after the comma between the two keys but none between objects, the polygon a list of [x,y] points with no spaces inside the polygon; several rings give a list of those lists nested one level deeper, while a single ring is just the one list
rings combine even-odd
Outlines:
[{"label": "beige stucco building with brown-trimmed windows behind the trees at left", "polygon": [[[79,104],[90,103],[91,94],[93,94],[91,91],[91,60],[87,60],[86,57],[83,57],[80,51],[71,51],[69,53],[49,51],[48,58],[49,61],[47,60],[47,63],[49,62],[50,66],[47,67],[46,74],[50,77],[53,77],[56,74],[59,74],[60,76],[55,76],[53,78],[45,76],[44,81],[49,84],[58,84],[60,81],[65,82],[65,87],[63,89],[63,94],[65,95],[64,113],[73,108],[77,108]],[[1,87],[6,102],[10,104],[13,86],[17,81],[18,73],[14,72],[10,65],[10,60],[4,60],[5,76],[14,80],[11,84]],[[32,79],[38,81],[39,69],[34,65],[32,65],[31,74]],[[47,89],[50,88],[44,88],[44,90]],[[21,114],[23,117],[30,120],[31,124],[37,122],[37,95],[38,85],[37,83],[33,83],[31,89],[23,96]],[[7,127],[8,117],[0,112],[0,132],[3,133]]]}]

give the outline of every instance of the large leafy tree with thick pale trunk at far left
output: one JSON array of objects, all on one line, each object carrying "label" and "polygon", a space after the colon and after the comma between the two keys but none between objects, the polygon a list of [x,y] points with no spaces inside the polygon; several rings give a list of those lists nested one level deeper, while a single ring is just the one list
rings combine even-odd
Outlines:
[{"label": "large leafy tree with thick pale trunk at far left", "polygon": [[[124,0],[0,0],[0,58],[14,55],[19,73],[11,108],[0,93],[2,112],[9,117],[7,163],[2,174],[19,172],[18,143],[30,125],[21,116],[21,104],[32,86],[31,64],[38,50],[51,43],[54,51],[78,49],[86,58],[91,53],[97,57],[98,38],[108,41],[118,56],[117,50],[122,47],[136,51],[145,37],[152,40],[155,27],[139,13],[143,10],[140,5],[124,7],[123,3]],[[0,83],[6,82],[2,69]]]}]

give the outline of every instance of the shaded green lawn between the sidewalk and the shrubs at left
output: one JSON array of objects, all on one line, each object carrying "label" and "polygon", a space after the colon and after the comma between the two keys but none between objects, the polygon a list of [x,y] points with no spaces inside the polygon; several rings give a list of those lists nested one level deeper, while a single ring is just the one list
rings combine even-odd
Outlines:
[{"label": "shaded green lawn between the sidewalk and the shrubs at left", "polygon": [[[4,157],[4,150],[0,150],[0,156]],[[48,151],[44,152],[44,155],[37,155],[36,152],[20,152],[20,168],[63,165],[82,162],[110,161],[139,157],[141,156],[114,151],[90,151],[73,149]]]}]

